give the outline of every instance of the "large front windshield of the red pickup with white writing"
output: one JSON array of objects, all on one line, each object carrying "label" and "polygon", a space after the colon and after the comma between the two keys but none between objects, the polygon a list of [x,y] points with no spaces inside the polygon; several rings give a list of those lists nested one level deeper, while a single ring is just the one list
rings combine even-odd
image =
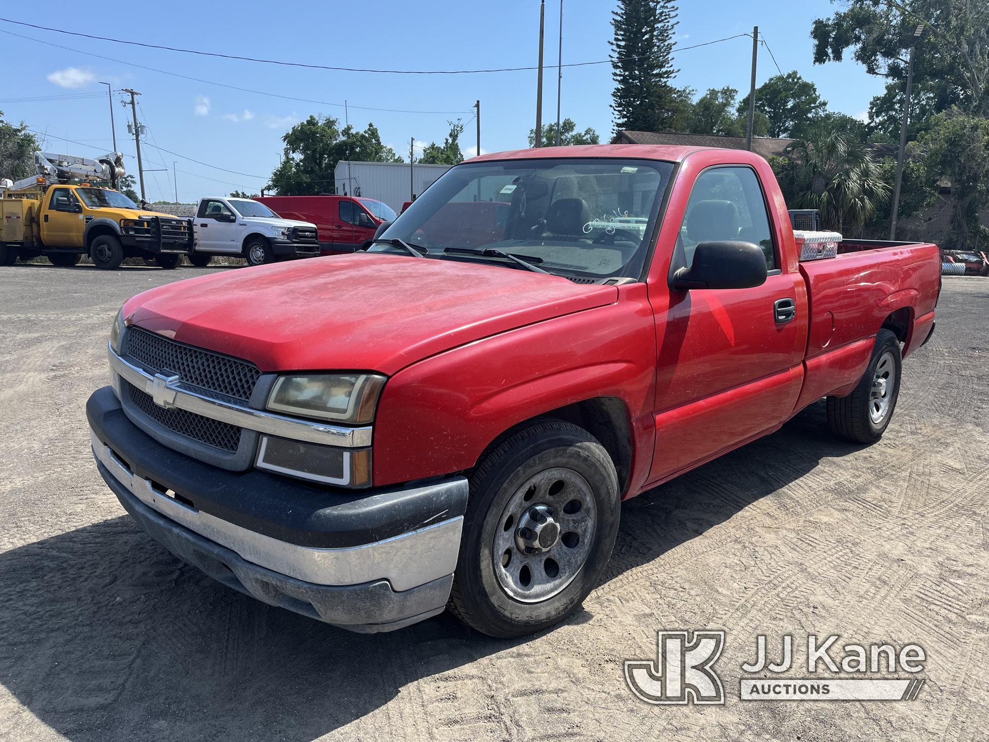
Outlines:
[{"label": "large front windshield of the red pickup with white writing", "polygon": [[671,162],[600,158],[457,165],[381,236],[426,257],[511,264],[477,254],[494,249],[560,275],[638,279],[672,171]]}]

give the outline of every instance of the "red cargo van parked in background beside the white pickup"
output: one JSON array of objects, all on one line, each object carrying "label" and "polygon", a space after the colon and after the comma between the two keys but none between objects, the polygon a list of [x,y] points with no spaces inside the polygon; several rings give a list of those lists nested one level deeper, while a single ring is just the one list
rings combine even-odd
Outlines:
[{"label": "red cargo van parked in background beside the white pickup", "polygon": [[323,255],[359,250],[380,224],[397,216],[382,201],[354,196],[262,196],[255,201],[283,219],[315,224]]}]

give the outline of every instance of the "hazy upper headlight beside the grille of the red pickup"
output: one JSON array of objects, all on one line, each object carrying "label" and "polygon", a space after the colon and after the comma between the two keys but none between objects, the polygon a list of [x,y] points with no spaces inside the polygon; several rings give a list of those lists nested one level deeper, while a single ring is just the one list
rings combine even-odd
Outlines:
[{"label": "hazy upper headlight beside the grille of the red pickup", "polygon": [[385,377],[377,374],[282,376],[268,395],[268,410],[340,422],[370,422]]}]

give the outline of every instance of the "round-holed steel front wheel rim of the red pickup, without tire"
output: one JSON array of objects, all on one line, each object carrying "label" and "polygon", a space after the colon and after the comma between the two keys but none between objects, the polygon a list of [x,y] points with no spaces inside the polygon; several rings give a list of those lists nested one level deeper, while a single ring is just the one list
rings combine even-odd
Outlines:
[{"label": "round-holed steel front wheel rim of the red pickup, without tire", "polygon": [[[538,522],[536,513],[544,520]],[[587,561],[596,527],[594,495],[584,477],[565,467],[533,475],[508,499],[495,525],[492,559],[501,590],[520,603],[566,590]]]}]

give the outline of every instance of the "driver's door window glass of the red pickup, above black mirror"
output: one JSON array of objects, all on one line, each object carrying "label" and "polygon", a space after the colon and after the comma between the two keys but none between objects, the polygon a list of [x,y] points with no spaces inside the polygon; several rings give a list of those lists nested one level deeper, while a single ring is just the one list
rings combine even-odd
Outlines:
[{"label": "driver's door window glass of the red pickup, above black mirror", "polygon": [[693,263],[698,242],[737,239],[763,248],[766,270],[776,268],[763,189],[749,167],[705,170],[693,184],[679,241],[686,265]]}]

